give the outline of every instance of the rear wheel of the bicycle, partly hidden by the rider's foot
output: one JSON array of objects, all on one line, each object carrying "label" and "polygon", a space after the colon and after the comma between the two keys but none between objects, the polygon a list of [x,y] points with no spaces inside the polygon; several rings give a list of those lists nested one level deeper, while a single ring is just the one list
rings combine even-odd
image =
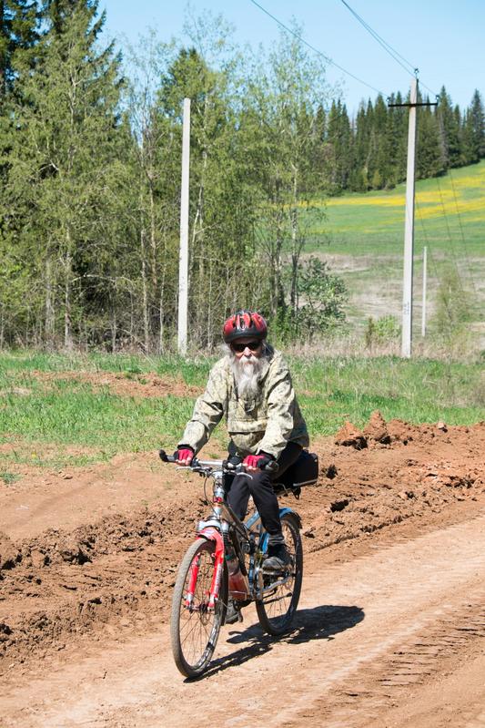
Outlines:
[{"label": "rear wheel of the bicycle, partly hidden by the rider's foot", "polygon": [[291,513],[286,513],[281,518],[281,527],[288,553],[293,559],[293,578],[275,587],[262,600],[256,600],[259,624],[264,631],[274,636],[288,631],[298,607],[303,579],[303,547],[298,520]]}]

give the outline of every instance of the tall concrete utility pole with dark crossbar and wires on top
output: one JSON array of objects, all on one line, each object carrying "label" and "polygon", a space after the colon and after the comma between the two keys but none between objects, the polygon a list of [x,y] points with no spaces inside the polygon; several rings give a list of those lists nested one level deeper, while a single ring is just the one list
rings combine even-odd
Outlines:
[{"label": "tall concrete utility pole with dark crossbar and wires on top", "polygon": [[401,355],[409,358],[412,345],[412,264],[414,255],[414,184],[416,169],[416,120],[417,108],[437,106],[418,103],[418,68],[412,79],[409,104],[389,104],[390,107],[409,107],[408,167],[406,171],[406,217],[404,221],[404,272],[402,284],[402,339]]}]

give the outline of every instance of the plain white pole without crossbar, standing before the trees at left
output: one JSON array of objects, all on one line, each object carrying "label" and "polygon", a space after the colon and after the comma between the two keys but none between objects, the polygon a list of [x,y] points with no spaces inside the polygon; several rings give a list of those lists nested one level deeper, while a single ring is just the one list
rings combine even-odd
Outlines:
[{"label": "plain white pole without crossbar, standing before the trees at left", "polygon": [[184,98],[182,131],[182,190],[180,196],[180,253],[178,257],[178,354],[187,354],[188,308],[188,190],[190,169],[190,98]]}]

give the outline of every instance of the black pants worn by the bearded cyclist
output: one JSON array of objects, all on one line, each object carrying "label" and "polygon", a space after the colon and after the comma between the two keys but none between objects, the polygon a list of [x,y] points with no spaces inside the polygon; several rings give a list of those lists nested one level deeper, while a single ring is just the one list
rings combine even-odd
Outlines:
[{"label": "black pants worn by the bearded cyclist", "polygon": [[271,483],[272,481],[278,481],[278,477],[297,461],[300,453],[301,446],[296,443],[288,443],[278,457],[279,467],[276,473],[260,470],[256,473],[250,473],[251,478],[244,475],[234,476],[232,482],[230,476],[226,477],[227,502],[236,513],[237,518],[242,520],[246,516],[249,496],[252,496],[256,508],[258,508],[261,522],[268,534],[270,536],[281,534],[278,497],[276,497]]}]

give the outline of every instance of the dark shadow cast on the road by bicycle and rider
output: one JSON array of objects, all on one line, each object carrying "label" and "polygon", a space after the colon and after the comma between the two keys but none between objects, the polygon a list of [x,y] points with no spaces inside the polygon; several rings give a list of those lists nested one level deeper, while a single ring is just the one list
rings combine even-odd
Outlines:
[{"label": "dark shadow cast on the road by bicycle and rider", "polygon": [[[320,605],[308,610],[297,610],[291,630],[281,637],[265,634],[261,627],[251,624],[242,631],[231,632],[227,643],[243,645],[237,651],[211,662],[209,669],[195,680],[204,680],[217,672],[241,665],[273,649],[275,642],[302,644],[312,640],[333,640],[339,632],[352,629],[365,618],[360,607]],[[185,682],[193,682],[188,679]]]}]

